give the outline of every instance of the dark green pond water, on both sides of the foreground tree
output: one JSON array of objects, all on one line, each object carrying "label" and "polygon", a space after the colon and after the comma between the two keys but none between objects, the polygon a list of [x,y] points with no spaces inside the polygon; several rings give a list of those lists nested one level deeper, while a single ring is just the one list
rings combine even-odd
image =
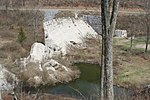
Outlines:
[{"label": "dark green pond water, on both sides of the foreground tree", "polygon": [[[99,94],[99,65],[97,64],[75,64],[81,71],[79,79],[48,87],[45,91],[52,94],[61,94],[86,100],[97,100]],[[129,100],[133,91],[122,87],[114,86],[115,100]]]}]

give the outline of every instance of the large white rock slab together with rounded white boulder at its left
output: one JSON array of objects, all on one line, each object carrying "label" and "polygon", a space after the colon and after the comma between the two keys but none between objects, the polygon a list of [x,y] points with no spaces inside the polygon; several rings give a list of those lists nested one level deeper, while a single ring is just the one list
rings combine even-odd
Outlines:
[{"label": "large white rock slab together with rounded white boulder at its left", "polygon": [[65,55],[68,45],[81,46],[83,37],[97,35],[93,28],[81,19],[53,19],[44,22],[43,27],[45,45],[37,42],[32,45],[28,56],[30,62],[42,62],[55,55]]}]

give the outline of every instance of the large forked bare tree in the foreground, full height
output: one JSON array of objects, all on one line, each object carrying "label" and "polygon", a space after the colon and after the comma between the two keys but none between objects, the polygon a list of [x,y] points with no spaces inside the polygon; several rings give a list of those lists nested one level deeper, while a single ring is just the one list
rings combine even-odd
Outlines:
[{"label": "large forked bare tree in the foreground, full height", "polygon": [[[113,34],[115,31],[120,0],[101,0],[102,16],[102,62],[101,62],[101,100],[113,100]],[[112,11],[111,11],[112,5]]]}]

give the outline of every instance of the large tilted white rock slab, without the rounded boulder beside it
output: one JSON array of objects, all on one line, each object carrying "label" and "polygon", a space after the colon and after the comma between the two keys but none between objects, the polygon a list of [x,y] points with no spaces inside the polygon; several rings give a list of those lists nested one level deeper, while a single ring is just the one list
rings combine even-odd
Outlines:
[{"label": "large tilted white rock slab, without the rounded boulder beside it", "polygon": [[46,21],[43,24],[45,32],[45,46],[53,53],[67,53],[67,45],[82,43],[87,35],[97,35],[93,28],[82,19],[59,18]]}]

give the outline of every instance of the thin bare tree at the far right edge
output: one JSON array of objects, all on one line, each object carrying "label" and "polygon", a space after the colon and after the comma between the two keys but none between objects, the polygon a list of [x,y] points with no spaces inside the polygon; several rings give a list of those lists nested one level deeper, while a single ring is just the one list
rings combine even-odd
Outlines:
[{"label": "thin bare tree at the far right edge", "polygon": [[146,47],[145,52],[148,50],[149,40],[150,40],[150,0],[145,1],[145,8],[144,8],[146,14],[145,14],[145,24],[146,24]]}]

